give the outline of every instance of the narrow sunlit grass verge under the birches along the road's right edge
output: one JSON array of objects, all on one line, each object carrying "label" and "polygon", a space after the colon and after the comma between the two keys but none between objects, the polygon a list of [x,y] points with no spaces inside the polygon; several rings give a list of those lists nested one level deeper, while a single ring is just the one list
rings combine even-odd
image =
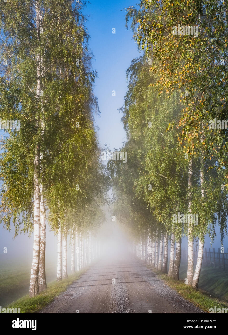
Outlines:
[{"label": "narrow sunlit grass verge under the birches along the road's right edge", "polygon": [[174,289],[183,298],[193,303],[204,312],[209,313],[209,309],[214,309],[215,306],[217,306],[217,309],[228,308],[228,303],[225,300],[220,300],[219,298],[213,297],[210,295],[210,293],[203,292],[201,289],[195,290],[191,286],[184,284],[184,280],[170,278],[167,276],[167,274],[163,274],[161,271],[158,271],[151,266],[148,266],[148,268],[151,268],[154,272],[156,272],[170,288]]}]

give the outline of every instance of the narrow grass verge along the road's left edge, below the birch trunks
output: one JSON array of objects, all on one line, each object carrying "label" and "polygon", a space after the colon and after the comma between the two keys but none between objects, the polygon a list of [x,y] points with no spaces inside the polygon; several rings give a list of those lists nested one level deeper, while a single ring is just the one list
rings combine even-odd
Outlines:
[{"label": "narrow grass verge along the road's left edge, below the birch trunks", "polygon": [[64,292],[68,285],[77,280],[85,271],[87,271],[87,268],[70,275],[61,282],[53,281],[48,285],[47,290],[41,292],[37,296],[30,298],[28,295],[25,295],[24,297],[11,303],[7,306],[7,308],[20,308],[20,313],[37,313],[45,306],[49,305],[54,297],[59,295],[61,292]]}]

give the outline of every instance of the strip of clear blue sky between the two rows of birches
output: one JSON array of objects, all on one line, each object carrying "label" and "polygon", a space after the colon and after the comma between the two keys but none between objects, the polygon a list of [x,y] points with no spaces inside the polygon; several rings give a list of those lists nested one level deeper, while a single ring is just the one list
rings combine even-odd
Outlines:
[{"label": "strip of clear blue sky between the two rows of birches", "polygon": [[[90,48],[96,58],[93,68],[98,72],[95,86],[101,111],[100,118],[95,118],[100,128],[98,137],[101,147],[107,143],[111,150],[121,147],[121,142],[126,140],[118,109],[127,90],[126,69],[139,56],[132,31],[125,27],[125,10],[121,11],[132,5],[135,5],[132,0],[91,1],[83,10],[83,14],[88,14]],[[112,28],[116,29],[115,34]],[[116,96],[112,96],[113,90]]]}]

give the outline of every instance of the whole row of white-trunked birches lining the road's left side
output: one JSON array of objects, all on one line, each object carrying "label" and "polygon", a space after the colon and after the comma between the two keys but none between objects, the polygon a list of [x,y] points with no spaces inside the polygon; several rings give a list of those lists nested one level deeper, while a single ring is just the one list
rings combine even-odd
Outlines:
[{"label": "whole row of white-trunked birches lining the road's left side", "polygon": [[15,236],[34,231],[31,297],[47,287],[46,216],[58,234],[58,280],[62,236],[66,276],[67,235],[74,246],[75,236],[91,236],[104,217],[107,179],[93,124],[96,72],[82,6],[72,0],[0,4],[0,115],[11,124],[1,141],[0,213]]}]

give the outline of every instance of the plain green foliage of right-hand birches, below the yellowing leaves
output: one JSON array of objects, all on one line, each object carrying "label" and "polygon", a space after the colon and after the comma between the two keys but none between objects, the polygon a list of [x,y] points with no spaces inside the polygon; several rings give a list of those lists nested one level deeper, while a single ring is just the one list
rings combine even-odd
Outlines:
[{"label": "plain green foliage of right-hand birches, below the yellowing leaves", "polygon": [[[224,170],[218,170],[218,156],[199,154],[191,158],[179,145],[178,118],[181,104],[178,92],[169,99],[166,92],[157,95],[154,83],[157,75],[150,71],[144,57],[131,62],[127,70],[128,90],[125,95],[123,125],[128,140],[122,151],[128,152],[126,164],[109,162],[116,195],[115,212],[132,226],[135,236],[155,235],[157,229],[174,232],[175,239],[188,232],[188,222],[173,222],[173,214],[198,214],[193,238],[209,233],[215,238],[218,219],[221,243],[226,232],[227,191],[221,191]],[[168,126],[173,127],[168,130]],[[192,185],[188,185],[189,160],[192,165]],[[214,166],[212,168],[212,166]],[[201,185],[200,171],[204,182]],[[128,218],[129,217],[129,218]]]}]

